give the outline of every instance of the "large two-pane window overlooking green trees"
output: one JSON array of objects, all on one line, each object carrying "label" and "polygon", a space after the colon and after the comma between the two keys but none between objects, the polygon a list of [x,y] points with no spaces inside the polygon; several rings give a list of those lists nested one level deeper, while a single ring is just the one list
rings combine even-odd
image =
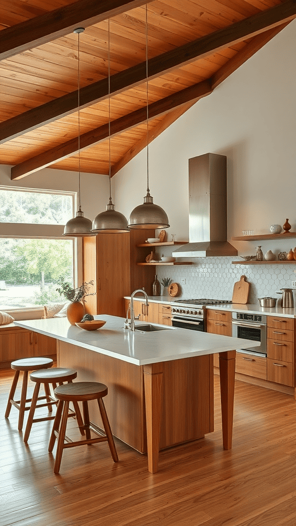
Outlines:
[{"label": "large two-pane window overlooking green trees", "polygon": [[56,288],[62,277],[73,284],[74,241],[61,236],[71,217],[72,194],[0,187],[0,310],[64,301]]}]

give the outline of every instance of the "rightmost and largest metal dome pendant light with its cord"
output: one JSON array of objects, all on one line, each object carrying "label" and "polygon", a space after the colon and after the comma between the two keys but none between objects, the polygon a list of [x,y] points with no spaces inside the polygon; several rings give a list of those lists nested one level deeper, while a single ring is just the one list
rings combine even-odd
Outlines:
[{"label": "rightmost and largest metal dome pendant light with its cord", "polygon": [[130,215],[129,228],[169,228],[169,219],[163,208],[154,205],[153,197],[149,190],[149,109],[148,109],[148,31],[147,31],[147,4],[146,4],[146,107],[147,107],[147,194],[143,205],[136,206]]}]

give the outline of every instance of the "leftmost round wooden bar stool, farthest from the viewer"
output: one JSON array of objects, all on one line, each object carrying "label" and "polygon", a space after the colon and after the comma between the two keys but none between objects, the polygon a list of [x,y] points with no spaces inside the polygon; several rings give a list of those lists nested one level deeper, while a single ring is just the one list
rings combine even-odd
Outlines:
[{"label": "leftmost round wooden bar stool, farthest from the viewer", "polygon": [[[32,398],[26,398],[27,397],[27,385],[28,385],[28,371],[35,371],[37,369],[47,369],[49,367],[52,367],[53,360],[51,358],[22,358],[20,360],[15,360],[11,362],[11,368],[15,370],[11,390],[9,392],[8,396],[8,402],[7,407],[5,411],[5,418],[9,417],[9,413],[11,412],[11,407],[14,406],[16,409],[19,410],[19,416],[18,416],[18,430],[21,431],[23,429],[23,423],[24,423],[24,414],[25,411],[28,411],[30,406],[26,407],[26,402],[31,402]],[[16,390],[19,372],[24,371],[23,376],[23,385],[22,385],[22,394],[21,394],[21,400],[14,400],[14,393]]]}]

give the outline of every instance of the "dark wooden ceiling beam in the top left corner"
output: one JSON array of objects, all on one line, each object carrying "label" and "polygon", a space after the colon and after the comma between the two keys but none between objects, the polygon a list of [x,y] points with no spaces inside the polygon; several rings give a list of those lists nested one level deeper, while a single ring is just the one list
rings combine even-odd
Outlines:
[{"label": "dark wooden ceiling beam in the top left corner", "polygon": [[153,0],[78,0],[0,32],[0,60],[92,26]]}]

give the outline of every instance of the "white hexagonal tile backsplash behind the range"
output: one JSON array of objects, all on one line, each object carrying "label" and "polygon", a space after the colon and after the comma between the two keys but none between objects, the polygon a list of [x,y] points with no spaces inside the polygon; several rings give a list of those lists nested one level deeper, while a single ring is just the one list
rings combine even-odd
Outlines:
[{"label": "white hexagonal tile backsplash behind the range", "polygon": [[[155,267],[159,281],[170,277],[180,285],[181,298],[231,300],[235,281],[245,275],[251,283],[249,303],[258,304],[258,298],[265,296],[280,298],[276,292],[283,287],[292,287],[292,281],[296,280],[295,264],[232,265],[233,257],[192,260],[193,265]],[[182,279],[186,280],[184,285]]]}]

